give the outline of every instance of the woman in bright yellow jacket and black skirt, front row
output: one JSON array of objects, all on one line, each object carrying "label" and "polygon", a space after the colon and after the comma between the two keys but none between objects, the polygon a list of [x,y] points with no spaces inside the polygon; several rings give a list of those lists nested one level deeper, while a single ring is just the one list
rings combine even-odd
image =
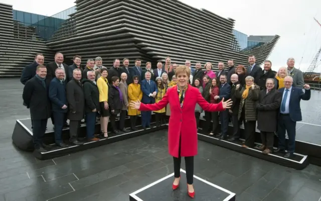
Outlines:
[{"label": "woman in bright yellow jacket and black skirt, front row", "polygon": [[108,71],[106,68],[101,69],[101,76],[97,79],[97,87],[99,90],[99,102],[100,102],[100,132],[107,138],[107,127],[109,121],[109,106],[108,106]]}]

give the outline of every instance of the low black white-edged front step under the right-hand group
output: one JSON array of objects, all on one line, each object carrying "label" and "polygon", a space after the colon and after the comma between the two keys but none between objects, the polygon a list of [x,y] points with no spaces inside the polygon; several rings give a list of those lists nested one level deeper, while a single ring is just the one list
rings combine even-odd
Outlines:
[{"label": "low black white-edged front step under the right-hand group", "polygon": [[[267,160],[269,162],[273,162],[273,163],[290,167],[293,169],[302,170],[308,165],[308,157],[306,155],[294,153],[293,159],[287,159],[282,157],[282,155],[280,154],[275,154],[275,153],[263,154],[262,151],[257,150],[255,148],[243,148],[242,142],[244,142],[244,140],[240,140],[239,142],[229,142],[227,140],[220,140],[216,137],[212,137],[212,136],[208,136],[200,133],[198,133],[198,139],[214,145],[218,145],[220,147],[228,148],[240,153],[254,156],[256,158]],[[256,144],[261,145],[259,143],[256,143]]]}]

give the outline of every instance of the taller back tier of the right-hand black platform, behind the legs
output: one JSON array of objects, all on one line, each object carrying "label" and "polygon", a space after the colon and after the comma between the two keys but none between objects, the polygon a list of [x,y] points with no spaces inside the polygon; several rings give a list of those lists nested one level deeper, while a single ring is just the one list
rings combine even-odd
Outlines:
[{"label": "taller back tier of the right-hand black platform, behind the legs", "polygon": [[[203,127],[205,120],[200,119],[200,128]],[[241,138],[245,139],[243,125],[241,128]],[[228,134],[232,133],[233,125],[229,124]],[[209,132],[208,132],[209,133]],[[203,133],[202,133],[203,134]],[[288,138],[286,138],[287,143]],[[260,131],[256,129],[255,142],[261,144]],[[315,143],[313,143],[315,142]],[[318,144],[320,143],[320,144]],[[220,144],[218,144],[220,146]],[[278,138],[274,138],[274,147],[278,147]],[[297,155],[308,156],[308,163],[321,166],[321,126],[300,123],[296,124],[295,153]]]}]

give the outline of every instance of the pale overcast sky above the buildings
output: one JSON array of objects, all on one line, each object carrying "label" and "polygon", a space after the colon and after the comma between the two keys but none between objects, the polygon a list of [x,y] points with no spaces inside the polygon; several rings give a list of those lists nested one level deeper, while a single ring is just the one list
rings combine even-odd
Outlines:
[{"label": "pale overcast sky above the buildings", "polygon": [[[0,0],[15,10],[51,16],[74,6],[74,0]],[[195,8],[235,20],[235,29],[247,35],[279,35],[280,40],[268,58],[272,68],[286,65],[288,57],[304,71],[321,46],[320,0],[181,0]],[[195,30],[204,31],[204,30]],[[321,72],[321,61],[317,72]]]}]

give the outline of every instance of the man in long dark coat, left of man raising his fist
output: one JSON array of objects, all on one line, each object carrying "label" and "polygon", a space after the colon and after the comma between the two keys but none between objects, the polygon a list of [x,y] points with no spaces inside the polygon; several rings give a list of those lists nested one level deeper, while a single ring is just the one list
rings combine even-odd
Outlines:
[{"label": "man in long dark coat, left of man raising his fist", "polygon": [[259,94],[257,107],[257,129],[261,131],[262,146],[259,150],[269,154],[273,150],[274,133],[277,128],[277,115],[282,101],[282,93],[275,89],[275,80],[266,79],[266,90]]}]

